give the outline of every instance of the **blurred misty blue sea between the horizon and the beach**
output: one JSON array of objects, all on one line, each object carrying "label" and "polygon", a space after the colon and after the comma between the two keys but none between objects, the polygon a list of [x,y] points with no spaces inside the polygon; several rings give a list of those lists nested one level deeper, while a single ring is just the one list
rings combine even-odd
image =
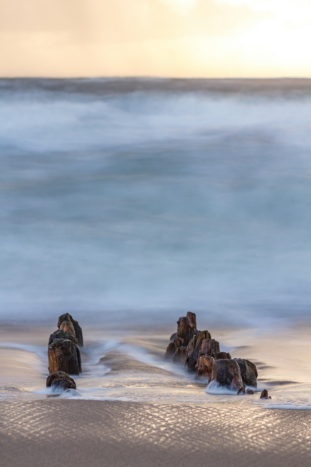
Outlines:
[{"label": "blurred misty blue sea between the horizon and the beach", "polygon": [[42,82],[0,81],[0,320],[309,318],[311,86]]}]

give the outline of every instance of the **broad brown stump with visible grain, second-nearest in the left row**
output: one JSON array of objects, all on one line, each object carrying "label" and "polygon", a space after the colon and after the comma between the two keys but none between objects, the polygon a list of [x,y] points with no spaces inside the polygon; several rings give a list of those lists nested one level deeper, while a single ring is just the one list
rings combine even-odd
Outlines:
[{"label": "broad brown stump with visible grain, second-nearest in the left row", "polygon": [[79,375],[79,362],[75,344],[71,340],[56,340],[48,346],[48,372],[64,371]]}]

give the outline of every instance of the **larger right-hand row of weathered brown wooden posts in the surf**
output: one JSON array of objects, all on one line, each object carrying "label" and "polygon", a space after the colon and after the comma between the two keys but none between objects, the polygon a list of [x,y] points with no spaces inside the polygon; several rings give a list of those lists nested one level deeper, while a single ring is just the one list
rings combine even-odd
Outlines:
[{"label": "larger right-hand row of weathered brown wooden posts in the surf", "polygon": [[[190,311],[177,321],[177,333],[170,338],[165,358],[195,372],[194,379],[235,389],[237,394],[254,394],[253,389],[246,390],[245,387],[257,387],[255,364],[242,358],[232,359],[228,352],[221,352],[219,342],[212,339],[207,330],[197,330],[195,313]],[[262,391],[260,397],[268,398],[267,389]]]}]

